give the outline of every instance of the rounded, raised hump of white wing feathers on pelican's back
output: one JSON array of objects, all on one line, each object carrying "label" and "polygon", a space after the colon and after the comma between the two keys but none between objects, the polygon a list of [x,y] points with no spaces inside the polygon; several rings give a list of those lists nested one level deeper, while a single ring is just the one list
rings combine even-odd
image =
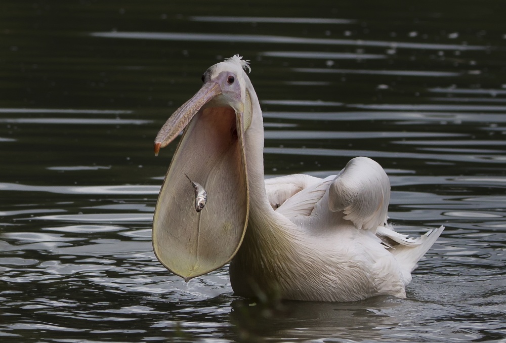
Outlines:
[{"label": "rounded, raised hump of white wing feathers on pelican's back", "polygon": [[328,189],[328,208],[343,212],[357,229],[376,232],[387,222],[390,182],[385,170],[367,157],[356,157]]}]

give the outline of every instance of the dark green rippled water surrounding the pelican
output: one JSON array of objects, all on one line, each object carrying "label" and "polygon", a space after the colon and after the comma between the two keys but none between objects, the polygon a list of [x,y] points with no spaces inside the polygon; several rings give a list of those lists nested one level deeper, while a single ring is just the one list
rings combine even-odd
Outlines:
[{"label": "dark green rippled water surrounding the pelican", "polygon": [[[506,341],[501,2],[0,2],[0,341]],[[200,75],[239,53],[269,176],[374,158],[397,230],[446,230],[407,299],[265,308],[186,284],[151,220]]]}]

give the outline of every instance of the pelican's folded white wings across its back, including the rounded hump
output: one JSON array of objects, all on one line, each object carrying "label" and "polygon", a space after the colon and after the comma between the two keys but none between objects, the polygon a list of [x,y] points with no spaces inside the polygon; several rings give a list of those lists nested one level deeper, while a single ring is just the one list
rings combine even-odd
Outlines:
[{"label": "pelican's folded white wings across its back, including the rounded hump", "polygon": [[[298,226],[315,226],[324,218],[335,224],[334,218],[376,233],[387,222],[390,182],[383,168],[367,157],[352,159],[337,176],[319,179],[296,174],[268,179],[265,184],[271,206],[290,220],[297,218]],[[394,238],[402,240],[389,237]]]}]

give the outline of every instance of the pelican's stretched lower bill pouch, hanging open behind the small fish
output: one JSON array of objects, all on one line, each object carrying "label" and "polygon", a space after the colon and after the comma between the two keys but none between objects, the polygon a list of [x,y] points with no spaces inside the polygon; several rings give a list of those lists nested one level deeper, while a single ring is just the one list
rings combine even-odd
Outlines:
[{"label": "pelican's stretched lower bill pouch, hanging open behind the small fish", "polygon": [[[239,130],[237,130],[239,128]],[[153,219],[158,260],[186,281],[228,263],[247,224],[248,183],[241,115],[230,107],[200,110],[188,124],[163,181]],[[207,202],[195,211],[193,187]]]}]

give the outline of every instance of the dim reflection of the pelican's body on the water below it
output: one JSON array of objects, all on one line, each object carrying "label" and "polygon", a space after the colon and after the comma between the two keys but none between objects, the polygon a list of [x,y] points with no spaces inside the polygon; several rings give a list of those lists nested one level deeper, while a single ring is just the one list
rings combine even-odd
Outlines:
[{"label": "dim reflection of the pelican's body on the water below it", "polygon": [[[376,296],[350,303],[281,301],[259,303],[234,299],[231,323],[240,340],[262,339],[377,339],[382,330],[399,325],[391,316],[402,299]],[[335,340],[332,340],[335,341]]]}]

